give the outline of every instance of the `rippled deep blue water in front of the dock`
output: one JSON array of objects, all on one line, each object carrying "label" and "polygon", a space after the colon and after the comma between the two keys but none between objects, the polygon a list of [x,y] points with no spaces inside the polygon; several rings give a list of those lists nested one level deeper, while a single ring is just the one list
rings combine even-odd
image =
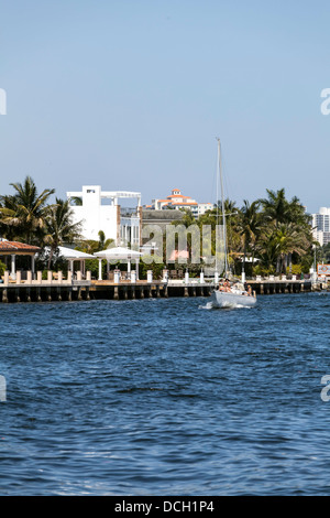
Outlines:
[{"label": "rippled deep blue water in front of the dock", "polygon": [[1,304],[0,494],[330,495],[329,312]]}]

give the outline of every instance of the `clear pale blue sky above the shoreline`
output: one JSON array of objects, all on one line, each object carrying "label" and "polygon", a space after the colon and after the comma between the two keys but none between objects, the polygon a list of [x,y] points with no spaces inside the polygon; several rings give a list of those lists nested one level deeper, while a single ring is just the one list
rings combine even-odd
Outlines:
[{"label": "clear pale blue sky above the shoreline", "polygon": [[216,201],[285,187],[330,206],[330,3],[0,0],[0,193],[173,187]]}]

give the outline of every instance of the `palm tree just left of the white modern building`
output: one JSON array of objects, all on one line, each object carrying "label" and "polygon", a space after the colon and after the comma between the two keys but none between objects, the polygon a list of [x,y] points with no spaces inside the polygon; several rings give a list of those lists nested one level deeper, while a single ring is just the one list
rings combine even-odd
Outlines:
[{"label": "palm tree just left of the white modern building", "polygon": [[51,247],[48,256],[48,269],[51,268],[53,256],[58,246],[64,242],[73,242],[80,239],[81,224],[73,222],[73,209],[69,201],[56,197],[56,204],[50,207],[46,217],[47,234],[44,241]]}]

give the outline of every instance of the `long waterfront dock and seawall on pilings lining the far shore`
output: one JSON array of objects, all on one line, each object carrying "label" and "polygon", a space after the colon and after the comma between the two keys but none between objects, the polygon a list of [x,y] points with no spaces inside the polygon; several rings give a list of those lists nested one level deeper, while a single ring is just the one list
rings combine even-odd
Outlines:
[{"label": "long waterfront dock and seawall on pilings lining the far shore", "polygon": [[[215,289],[213,279],[188,278],[153,280],[95,280],[90,272],[84,276],[78,271],[75,278],[68,272],[64,278],[62,272],[48,272],[47,279],[42,279],[42,272],[35,276],[28,272],[22,280],[16,272],[14,280],[6,272],[0,283],[0,302],[52,302],[81,300],[134,300],[147,298],[170,296],[210,296]],[[312,283],[310,279],[266,278],[248,280],[257,295],[276,293],[302,293],[328,290],[326,280]]]}]

